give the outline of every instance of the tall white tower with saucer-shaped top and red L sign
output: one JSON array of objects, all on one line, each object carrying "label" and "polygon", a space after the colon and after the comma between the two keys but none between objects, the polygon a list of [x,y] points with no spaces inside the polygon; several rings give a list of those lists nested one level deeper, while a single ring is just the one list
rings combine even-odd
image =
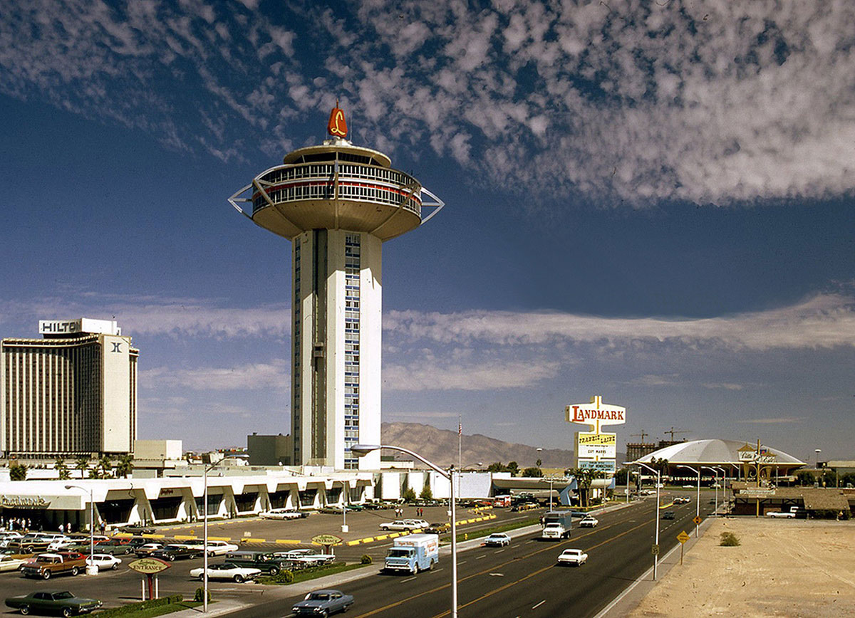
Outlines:
[{"label": "tall white tower with saucer-shaped top and red L sign", "polygon": [[[292,464],[377,469],[380,451],[357,458],[351,445],[380,444],[382,244],[445,203],[388,156],[351,144],[338,105],[327,132],[228,201],[292,242]],[[423,207],[433,207],[424,218]]]}]

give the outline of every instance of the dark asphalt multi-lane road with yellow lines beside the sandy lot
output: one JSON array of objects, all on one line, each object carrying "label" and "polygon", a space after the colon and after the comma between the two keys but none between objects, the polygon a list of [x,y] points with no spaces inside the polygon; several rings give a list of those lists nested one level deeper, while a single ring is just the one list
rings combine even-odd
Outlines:
[{"label": "dark asphalt multi-lane road with yellow lines beside the sandy lot", "polygon": [[[458,614],[461,618],[596,615],[652,565],[654,509],[655,498],[649,498],[600,516],[596,528],[574,528],[572,539],[546,542],[528,535],[514,539],[506,548],[462,552],[458,556]],[[702,495],[701,514],[711,509]],[[694,528],[694,500],[667,510],[675,511],[675,520],[661,522],[662,554],[678,543],[678,533],[693,533]],[[581,568],[558,567],[556,558],[568,547],[586,550],[588,562]],[[415,577],[378,573],[341,589],[356,598],[351,614],[358,618],[440,618],[450,614],[450,571],[446,557],[433,572]],[[299,597],[278,598],[229,616],[289,615],[297,600]]]}]

